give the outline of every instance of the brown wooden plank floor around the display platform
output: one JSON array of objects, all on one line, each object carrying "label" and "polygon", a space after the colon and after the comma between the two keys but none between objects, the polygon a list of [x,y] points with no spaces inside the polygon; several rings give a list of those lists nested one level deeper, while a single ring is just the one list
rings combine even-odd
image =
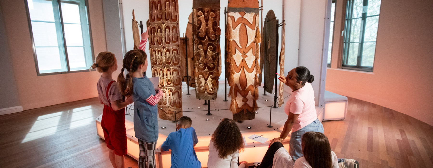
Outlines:
[{"label": "brown wooden plank floor around the display platform", "polygon": [[[110,168],[94,121],[102,108],[91,98],[0,116],[0,167]],[[346,120],[323,126],[337,157],[361,168],[433,167],[433,127],[397,111],[349,98]]]}]

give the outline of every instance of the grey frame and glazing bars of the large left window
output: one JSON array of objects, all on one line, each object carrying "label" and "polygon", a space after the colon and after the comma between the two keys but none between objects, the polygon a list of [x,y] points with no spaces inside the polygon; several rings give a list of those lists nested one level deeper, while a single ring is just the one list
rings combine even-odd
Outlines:
[{"label": "grey frame and glazing bars of the large left window", "polygon": [[[80,72],[89,72],[89,71],[95,71],[94,69],[84,69],[84,70],[71,70],[71,67],[69,66],[69,59],[68,59],[68,46],[66,45],[66,38],[65,38],[65,28],[64,28],[64,22],[63,22],[63,16],[61,13],[61,3],[65,3],[65,1],[68,0],[52,0],[52,1],[56,1],[57,6],[53,5],[53,10],[54,12],[58,12],[58,14],[54,14],[54,17],[59,17],[60,19],[60,25],[57,25],[58,23],[55,23],[56,26],[61,26],[61,32],[56,32],[56,33],[61,33],[61,39],[58,39],[63,41],[63,46],[58,46],[59,47],[59,51],[64,53],[65,57],[62,57],[62,55],[60,55],[60,60],[61,61],[65,61],[66,62],[66,71],[62,71],[62,72],[51,72],[51,73],[40,73],[39,71],[39,64],[38,64],[38,59],[36,56],[36,45],[35,45],[35,40],[33,38],[33,30],[32,30],[32,20],[30,19],[30,11],[29,11],[29,4],[27,2],[27,0],[24,0],[24,4],[26,7],[26,14],[27,14],[27,22],[29,25],[29,32],[30,32],[30,41],[32,43],[32,50],[33,50],[33,59],[35,61],[35,67],[36,67],[36,74],[37,76],[46,76],[46,75],[57,75],[57,74],[66,74],[66,73],[80,73]],[[74,1],[74,0],[70,0],[70,1]],[[91,30],[91,22],[90,22],[90,11],[89,11],[89,3],[88,0],[84,0],[84,5],[86,8],[85,14],[86,14],[86,18],[87,18],[87,24],[88,24],[88,32],[89,32],[89,39],[90,39],[90,55],[91,55],[91,59],[92,62],[95,59],[94,56],[94,45],[93,45],[93,38],[92,38],[92,30]],[[58,11],[56,11],[57,8]],[[81,10],[80,10],[80,14],[81,14]],[[58,15],[58,16],[56,16]],[[82,18],[84,16],[80,16],[80,18]],[[81,32],[82,35],[86,32],[82,31]],[[83,35],[84,36],[84,35]],[[83,45],[84,45],[84,38],[83,38]],[[62,48],[63,47],[63,48]],[[73,46],[75,47],[75,46]],[[83,48],[84,50],[84,48]],[[85,53],[85,51],[84,51]],[[87,57],[85,56],[85,59],[87,61]],[[63,66],[63,64],[61,65]]]}]

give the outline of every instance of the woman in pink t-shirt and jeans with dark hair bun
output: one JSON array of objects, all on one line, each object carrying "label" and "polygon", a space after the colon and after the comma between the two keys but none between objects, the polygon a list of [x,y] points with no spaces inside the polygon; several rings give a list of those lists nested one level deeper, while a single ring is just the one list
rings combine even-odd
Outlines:
[{"label": "woman in pink t-shirt and jeans with dark hair bun", "polygon": [[284,107],[284,112],[289,117],[284,124],[280,137],[272,139],[271,144],[282,142],[291,130],[289,153],[293,160],[296,161],[297,158],[303,155],[301,147],[302,135],[308,131],[323,133],[323,125],[317,119],[314,91],[311,86],[314,76],[310,74],[310,70],[306,67],[297,67],[290,70],[285,78],[279,76],[278,79],[293,91]]}]

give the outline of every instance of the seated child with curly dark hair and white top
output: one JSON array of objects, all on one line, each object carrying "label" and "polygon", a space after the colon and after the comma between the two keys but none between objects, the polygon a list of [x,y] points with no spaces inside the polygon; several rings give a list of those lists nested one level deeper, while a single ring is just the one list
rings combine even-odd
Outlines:
[{"label": "seated child with curly dark hair and white top", "polygon": [[216,127],[209,142],[208,168],[248,168],[245,161],[239,162],[239,152],[244,141],[236,122],[223,118]]}]

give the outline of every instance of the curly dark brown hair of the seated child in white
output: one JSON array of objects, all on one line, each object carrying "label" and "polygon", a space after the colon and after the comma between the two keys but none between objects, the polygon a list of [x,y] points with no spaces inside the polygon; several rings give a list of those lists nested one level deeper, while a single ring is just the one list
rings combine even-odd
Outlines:
[{"label": "curly dark brown hair of the seated child in white", "polygon": [[238,125],[232,119],[223,118],[212,134],[213,146],[218,150],[220,158],[227,158],[244,148],[243,138]]}]

